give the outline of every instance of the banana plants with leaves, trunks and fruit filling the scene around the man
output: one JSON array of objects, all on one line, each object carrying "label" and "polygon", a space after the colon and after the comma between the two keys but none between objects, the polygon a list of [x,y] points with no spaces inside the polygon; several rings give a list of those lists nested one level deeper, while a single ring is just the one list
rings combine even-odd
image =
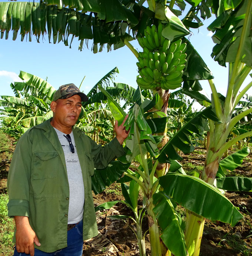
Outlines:
[{"label": "banana plants with leaves, trunks and fruit filling the scene around the man", "polygon": [[[138,70],[137,88],[115,83],[117,68],[106,70],[87,93],[89,100],[83,102],[76,124],[104,145],[115,137],[115,120],[120,125],[128,114],[126,154],[95,170],[92,190],[95,199],[112,183],[120,184],[122,198],[105,200],[96,211],[100,216],[117,205],[127,209],[110,216],[110,222],[125,221],[125,229],[133,230],[137,248],[131,255],[252,255],[251,167],[246,175],[233,172],[251,156],[251,15],[252,0],[0,2],[1,39],[16,40],[20,34],[22,41],[39,41],[48,36],[49,42],[66,46],[78,40],[79,50],[90,41],[94,53],[128,47],[136,57],[132,65]],[[190,43],[192,30],[210,17],[215,17],[208,26],[213,33],[209,40],[215,43],[211,57],[228,69],[225,95],[218,92],[215,74]],[[57,89],[25,71],[19,74],[23,82],[10,85],[15,96],[0,100],[1,130],[15,140],[52,117],[50,102]],[[202,80],[209,83],[210,98],[202,93]],[[193,108],[194,102],[200,110]],[[192,155],[198,165],[188,171],[185,159]],[[229,200],[228,193],[250,198],[246,211]],[[244,220],[251,230],[243,250],[231,254],[226,247],[222,254],[200,253],[209,223],[238,227]],[[110,232],[110,242],[120,248],[116,232]],[[130,254],[103,246],[99,255]]]}]

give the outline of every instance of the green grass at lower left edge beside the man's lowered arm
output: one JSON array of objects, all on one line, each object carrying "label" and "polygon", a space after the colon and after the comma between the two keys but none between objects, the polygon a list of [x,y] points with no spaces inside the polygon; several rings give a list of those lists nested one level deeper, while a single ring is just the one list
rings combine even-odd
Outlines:
[{"label": "green grass at lower left edge beside the man's lowered arm", "polygon": [[0,251],[2,255],[13,255],[13,220],[7,216],[8,195],[0,194]]}]

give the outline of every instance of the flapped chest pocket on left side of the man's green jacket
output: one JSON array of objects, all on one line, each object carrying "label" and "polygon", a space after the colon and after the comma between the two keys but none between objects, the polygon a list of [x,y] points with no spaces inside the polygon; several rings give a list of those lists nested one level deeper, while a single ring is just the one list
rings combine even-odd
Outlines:
[{"label": "flapped chest pocket on left side of the man's green jacket", "polygon": [[33,179],[40,180],[57,177],[58,155],[56,151],[34,152]]}]

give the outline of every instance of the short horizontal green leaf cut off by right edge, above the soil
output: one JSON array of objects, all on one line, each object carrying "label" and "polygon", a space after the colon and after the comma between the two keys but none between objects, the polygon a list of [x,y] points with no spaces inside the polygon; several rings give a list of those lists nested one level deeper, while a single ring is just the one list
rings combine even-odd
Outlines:
[{"label": "short horizontal green leaf cut off by right edge, above the soil", "polygon": [[225,177],[216,178],[214,186],[228,191],[252,191],[252,178]]}]

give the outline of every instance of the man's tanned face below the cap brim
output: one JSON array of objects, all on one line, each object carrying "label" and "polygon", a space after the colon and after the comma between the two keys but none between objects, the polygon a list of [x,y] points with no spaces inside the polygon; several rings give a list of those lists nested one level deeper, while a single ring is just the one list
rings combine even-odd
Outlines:
[{"label": "man's tanned face below the cap brim", "polygon": [[70,128],[76,124],[82,110],[82,102],[79,95],[73,95],[67,99],[53,101],[51,109],[53,119],[62,128]]}]

